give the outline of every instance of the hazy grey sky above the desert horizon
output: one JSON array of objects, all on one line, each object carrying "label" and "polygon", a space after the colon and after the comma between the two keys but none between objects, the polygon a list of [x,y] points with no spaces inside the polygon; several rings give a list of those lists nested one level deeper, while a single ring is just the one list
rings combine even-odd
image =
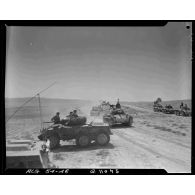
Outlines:
[{"label": "hazy grey sky above the desert horizon", "polygon": [[6,97],[153,101],[191,98],[191,30],[8,27]]}]

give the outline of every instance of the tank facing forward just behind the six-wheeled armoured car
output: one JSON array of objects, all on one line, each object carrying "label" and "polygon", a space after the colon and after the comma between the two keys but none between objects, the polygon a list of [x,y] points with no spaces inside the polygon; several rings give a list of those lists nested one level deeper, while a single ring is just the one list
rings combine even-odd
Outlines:
[{"label": "tank facing forward just behind the six-wheeled armoured car", "polygon": [[123,124],[126,126],[132,126],[133,117],[126,114],[121,108],[113,109],[109,114],[104,114],[103,121],[108,123],[109,126]]}]

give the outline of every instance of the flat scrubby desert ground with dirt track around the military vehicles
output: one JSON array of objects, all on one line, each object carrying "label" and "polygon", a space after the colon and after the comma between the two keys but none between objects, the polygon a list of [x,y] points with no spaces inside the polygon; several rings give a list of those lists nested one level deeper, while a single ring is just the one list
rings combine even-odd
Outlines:
[{"label": "flat scrubby desert ground with dirt track around the military vehicles", "polygon": [[[6,99],[6,119],[25,98]],[[171,103],[177,108],[181,101]],[[191,101],[186,100],[188,106]],[[133,116],[133,126],[111,128],[107,146],[91,144],[78,148],[75,141],[61,141],[49,158],[58,168],[154,168],[169,173],[191,172],[191,117],[153,112],[153,102],[121,102],[124,111]],[[90,116],[97,102],[87,100],[41,99],[43,121],[50,121],[57,111],[64,118],[73,109],[87,117],[87,123],[102,122],[102,116]],[[47,126],[49,124],[44,124]],[[38,100],[35,98],[20,109],[6,124],[6,140],[38,141],[41,129]]]}]

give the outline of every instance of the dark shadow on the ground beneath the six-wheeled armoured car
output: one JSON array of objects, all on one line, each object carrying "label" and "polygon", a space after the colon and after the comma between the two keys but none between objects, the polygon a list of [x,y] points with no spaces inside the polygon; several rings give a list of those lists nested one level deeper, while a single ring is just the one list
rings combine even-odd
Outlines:
[{"label": "dark shadow on the ground beneath the six-wheeled armoured car", "polygon": [[77,145],[61,145],[57,149],[51,150],[53,153],[58,153],[58,152],[79,152],[79,151],[91,151],[91,150],[98,150],[98,149],[113,149],[114,145],[109,143],[106,146],[99,146],[95,143],[91,143],[87,147],[79,147]]}]

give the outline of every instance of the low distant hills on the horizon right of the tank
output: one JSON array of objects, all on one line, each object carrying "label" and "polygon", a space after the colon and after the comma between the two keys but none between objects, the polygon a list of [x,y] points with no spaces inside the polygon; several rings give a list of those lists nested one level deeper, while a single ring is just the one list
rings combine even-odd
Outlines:
[{"label": "low distant hills on the horizon right of the tank", "polygon": [[[173,108],[179,108],[181,102],[184,104],[187,104],[188,107],[191,109],[192,102],[191,100],[171,100],[171,101],[162,101],[161,104],[165,106],[166,104],[171,104]],[[147,109],[153,109],[153,102],[121,102],[121,104],[126,104],[126,105],[132,105],[132,106],[137,106],[141,108],[147,108]]]}]

